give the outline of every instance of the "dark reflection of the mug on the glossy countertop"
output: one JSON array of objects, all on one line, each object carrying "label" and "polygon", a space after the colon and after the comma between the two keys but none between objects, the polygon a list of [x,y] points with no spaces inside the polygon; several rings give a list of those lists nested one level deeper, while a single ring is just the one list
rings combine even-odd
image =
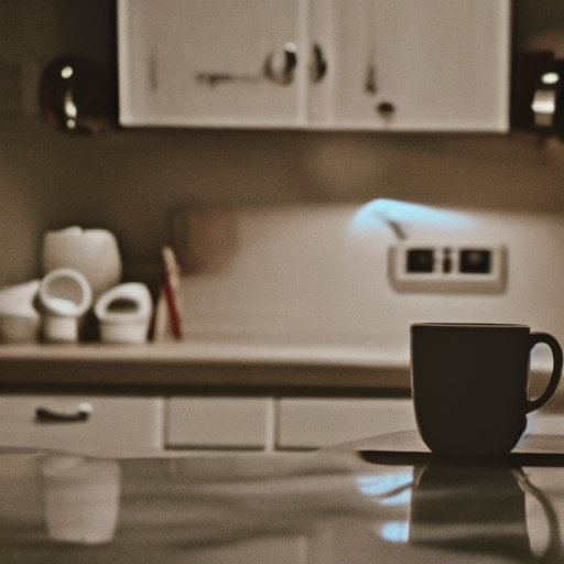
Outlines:
[{"label": "dark reflection of the mug on the glossy countertop", "polygon": [[413,477],[408,543],[517,562],[563,561],[556,511],[521,467],[432,458]]}]

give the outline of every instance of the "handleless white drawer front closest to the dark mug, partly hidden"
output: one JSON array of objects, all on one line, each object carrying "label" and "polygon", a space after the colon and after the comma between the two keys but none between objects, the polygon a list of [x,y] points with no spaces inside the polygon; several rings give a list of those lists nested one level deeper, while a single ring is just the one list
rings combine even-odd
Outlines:
[{"label": "handleless white drawer front closest to the dark mug, partly hidden", "polygon": [[410,399],[284,398],[278,408],[278,448],[318,448],[416,429]]}]

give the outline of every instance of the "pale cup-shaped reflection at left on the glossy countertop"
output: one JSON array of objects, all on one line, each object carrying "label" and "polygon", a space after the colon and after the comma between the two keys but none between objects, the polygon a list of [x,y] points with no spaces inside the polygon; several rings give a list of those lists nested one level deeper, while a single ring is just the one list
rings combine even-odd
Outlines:
[{"label": "pale cup-shaped reflection at left on the glossy countertop", "polygon": [[41,471],[51,540],[100,544],[113,539],[120,502],[116,460],[50,456],[42,460]]}]

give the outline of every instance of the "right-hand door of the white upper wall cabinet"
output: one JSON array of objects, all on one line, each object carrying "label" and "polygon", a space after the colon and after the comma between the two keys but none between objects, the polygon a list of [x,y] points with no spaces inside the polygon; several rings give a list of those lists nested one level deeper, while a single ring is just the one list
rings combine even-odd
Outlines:
[{"label": "right-hand door of the white upper wall cabinet", "polygon": [[509,0],[312,0],[311,13],[330,62],[315,124],[508,130]]}]

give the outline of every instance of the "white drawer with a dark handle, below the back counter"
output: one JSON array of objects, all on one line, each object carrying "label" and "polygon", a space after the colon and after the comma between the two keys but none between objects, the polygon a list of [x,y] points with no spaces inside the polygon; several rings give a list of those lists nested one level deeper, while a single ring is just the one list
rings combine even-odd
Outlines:
[{"label": "white drawer with a dark handle, below the back counter", "polygon": [[[162,448],[163,402],[160,398],[2,395],[0,445],[100,455]],[[37,417],[37,410],[45,413],[44,420]]]}]

